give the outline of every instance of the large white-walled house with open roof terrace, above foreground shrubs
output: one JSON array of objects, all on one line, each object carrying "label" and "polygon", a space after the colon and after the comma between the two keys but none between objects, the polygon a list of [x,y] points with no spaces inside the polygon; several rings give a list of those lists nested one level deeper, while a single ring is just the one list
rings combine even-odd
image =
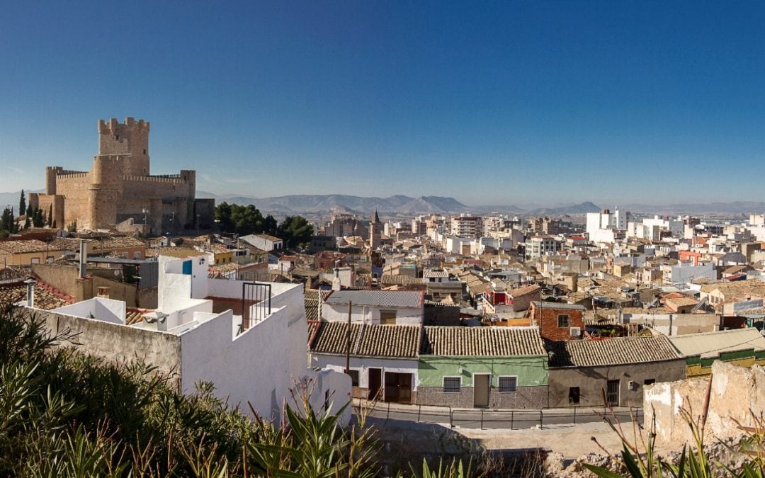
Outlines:
[{"label": "large white-walled house with open roof terrace, above foreground shrubs", "polygon": [[[243,281],[208,278],[208,262],[160,256],[159,307],[143,317],[101,297],[36,313],[51,330],[78,333],[74,345],[83,352],[115,361],[140,357],[175,376],[184,393],[194,392],[197,381],[212,382],[230,406],[249,411],[249,403],[264,418],[282,417],[284,399],[298,382],[311,382],[317,409],[330,395],[337,408],[344,405],[350,378],[306,367],[302,285],[252,290]],[[350,411],[343,421],[348,418]]]}]

